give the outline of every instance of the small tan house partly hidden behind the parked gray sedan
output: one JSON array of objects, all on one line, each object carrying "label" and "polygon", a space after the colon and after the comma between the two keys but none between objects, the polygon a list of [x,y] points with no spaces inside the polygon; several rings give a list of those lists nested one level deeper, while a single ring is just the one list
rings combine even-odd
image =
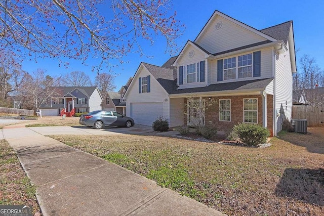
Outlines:
[{"label": "small tan house partly hidden behind the parked gray sedan", "polygon": [[126,115],[126,101],[124,99],[124,95],[132,79],[133,77],[130,77],[126,85],[123,85],[120,88],[119,92],[107,92],[103,97],[102,103],[100,104],[101,109],[116,111]]}]

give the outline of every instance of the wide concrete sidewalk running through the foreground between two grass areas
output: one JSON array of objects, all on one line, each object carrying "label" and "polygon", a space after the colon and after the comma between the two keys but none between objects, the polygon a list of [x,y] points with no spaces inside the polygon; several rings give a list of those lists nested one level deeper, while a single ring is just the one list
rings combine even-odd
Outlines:
[{"label": "wide concrete sidewalk running through the foreground between two grass areas", "polygon": [[223,215],[30,128],[4,128],[44,215]]}]

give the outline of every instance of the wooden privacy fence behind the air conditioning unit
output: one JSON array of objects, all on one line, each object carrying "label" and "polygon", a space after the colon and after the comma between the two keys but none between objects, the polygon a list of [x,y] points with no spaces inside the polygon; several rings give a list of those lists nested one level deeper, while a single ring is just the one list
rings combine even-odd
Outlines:
[{"label": "wooden privacy fence behind the air conditioning unit", "polygon": [[307,126],[324,125],[324,107],[293,106],[293,119],[307,119]]}]

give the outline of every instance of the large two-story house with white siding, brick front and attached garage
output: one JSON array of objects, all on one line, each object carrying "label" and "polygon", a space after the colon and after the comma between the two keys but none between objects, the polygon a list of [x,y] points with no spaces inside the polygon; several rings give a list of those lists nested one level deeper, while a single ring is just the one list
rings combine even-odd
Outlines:
[{"label": "large two-story house with white siding, brick front and attached garage", "polygon": [[[127,115],[145,125],[161,115],[172,127],[204,118],[223,133],[258,123],[276,135],[291,118],[295,72],[292,21],[257,30],[215,11],[178,56],[162,67],[139,65],[124,96]],[[207,100],[217,104],[203,116],[186,106]]]}]

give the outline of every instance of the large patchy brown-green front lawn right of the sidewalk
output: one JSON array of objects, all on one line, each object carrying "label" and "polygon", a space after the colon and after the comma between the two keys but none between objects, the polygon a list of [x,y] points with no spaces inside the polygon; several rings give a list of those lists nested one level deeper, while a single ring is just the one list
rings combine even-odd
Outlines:
[{"label": "large patchy brown-green front lawn right of the sidewalk", "polygon": [[323,131],[282,133],[264,149],[136,135],[52,137],[229,215],[322,215]]}]

